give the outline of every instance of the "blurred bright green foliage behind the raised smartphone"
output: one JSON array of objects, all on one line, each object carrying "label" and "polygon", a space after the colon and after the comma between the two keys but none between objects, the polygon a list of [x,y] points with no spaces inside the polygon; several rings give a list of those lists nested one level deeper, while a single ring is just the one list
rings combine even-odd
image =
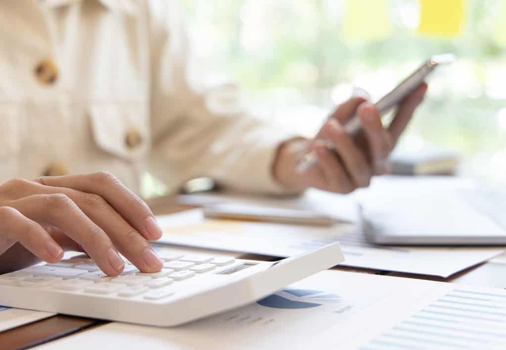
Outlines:
[{"label": "blurred bright green foliage behind the raised smartphone", "polygon": [[462,32],[451,38],[416,33],[418,2],[390,0],[390,34],[362,40],[347,38],[343,30],[345,0],[181,4],[197,58],[214,73],[209,79],[232,77],[257,115],[307,135],[353,86],[375,101],[431,55],[456,54],[455,64],[429,79],[426,102],[400,147],[451,149],[463,155],[463,173],[506,177],[501,0],[468,0]]}]

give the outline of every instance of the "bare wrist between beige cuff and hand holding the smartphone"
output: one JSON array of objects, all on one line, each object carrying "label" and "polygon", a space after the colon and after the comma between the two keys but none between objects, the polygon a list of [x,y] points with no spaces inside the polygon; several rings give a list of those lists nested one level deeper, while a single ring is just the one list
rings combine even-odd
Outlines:
[{"label": "bare wrist between beige cuff and hand holding the smartphone", "polygon": [[272,173],[275,181],[290,191],[299,192],[309,187],[296,167],[308,151],[310,142],[307,138],[295,137],[280,143],[277,148]]}]

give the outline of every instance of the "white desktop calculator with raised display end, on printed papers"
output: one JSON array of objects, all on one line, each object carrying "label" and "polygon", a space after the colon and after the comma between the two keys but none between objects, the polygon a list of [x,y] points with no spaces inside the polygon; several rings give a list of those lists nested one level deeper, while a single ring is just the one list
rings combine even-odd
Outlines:
[{"label": "white desktop calculator with raised display end, on printed papers", "polygon": [[176,326],[255,302],[344,261],[339,243],[278,262],[161,253],[164,268],[129,263],[109,277],[87,257],[0,275],[0,305],[111,321]]}]

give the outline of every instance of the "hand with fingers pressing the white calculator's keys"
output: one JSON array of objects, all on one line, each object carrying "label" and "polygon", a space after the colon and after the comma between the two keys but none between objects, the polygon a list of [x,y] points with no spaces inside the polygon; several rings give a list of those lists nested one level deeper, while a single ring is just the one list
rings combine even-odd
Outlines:
[{"label": "hand with fingers pressing the white calculator's keys", "polygon": [[140,271],[156,272],[162,262],[148,240],[161,235],[146,203],[107,172],[0,186],[0,273],[34,257],[56,263],[64,248],[85,251],[110,276],[123,270],[118,252]]}]

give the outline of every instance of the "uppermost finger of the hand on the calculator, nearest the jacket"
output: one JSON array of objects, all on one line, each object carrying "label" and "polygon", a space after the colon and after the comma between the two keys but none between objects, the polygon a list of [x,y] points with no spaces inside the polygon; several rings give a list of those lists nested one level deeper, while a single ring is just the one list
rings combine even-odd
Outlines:
[{"label": "uppermost finger of the hand on the calculator, nearest the jacket", "polygon": [[146,239],[157,240],[162,235],[162,230],[148,205],[108,172],[47,176],[36,181],[46,186],[67,187],[98,194]]}]

